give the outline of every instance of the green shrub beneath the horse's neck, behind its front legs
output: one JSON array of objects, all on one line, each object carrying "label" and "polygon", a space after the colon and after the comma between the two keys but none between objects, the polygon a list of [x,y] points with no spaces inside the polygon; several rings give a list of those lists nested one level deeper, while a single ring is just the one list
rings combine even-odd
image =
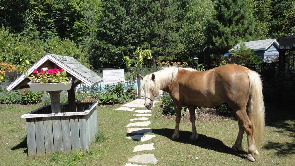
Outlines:
[{"label": "green shrub beneath the horse's neck, behind its front legs", "polygon": [[[175,110],[173,107],[173,100],[171,99],[171,96],[169,94],[163,95],[161,97],[161,103],[159,105],[163,108],[163,114],[165,115],[175,115]],[[183,116],[186,112],[187,107],[183,106],[181,108],[181,116]]]}]

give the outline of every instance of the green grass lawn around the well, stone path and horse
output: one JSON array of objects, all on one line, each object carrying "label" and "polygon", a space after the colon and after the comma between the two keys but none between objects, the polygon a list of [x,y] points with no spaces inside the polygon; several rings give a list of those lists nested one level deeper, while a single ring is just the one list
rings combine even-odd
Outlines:
[{"label": "green grass lawn around the well, stone path and horse", "polygon": [[[0,165],[125,165],[128,157],[154,153],[157,165],[295,165],[295,116],[291,110],[266,107],[266,132],[257,162],[245,161],[246,152],[235,153],[234,144],[238,127],[233,118],[197,120],[197,141],[189,141],[191,123],[182,120],[181,137],[172,141],[175,120],[163,118],[155,107],[148,127],[156,137],[145,141],[126,139],[125,127],[134,118],[134,112],[114,110],[120,105],[97,107],[98,129],[106,136],[105,141],[93,143],[87,155],[81,153],[58,154],[42,158],[28,158],[25,120],[20,118],[41,105],[0,105]],[[132,152],[139,144],[154,143],[155,150]],[[244,135],[243,147],[247,150]],[[199,157],[199,160],[195,158]],[[233,160],[235,159],[235,160]],[[148,166],[150,166],[148,164]]]}]

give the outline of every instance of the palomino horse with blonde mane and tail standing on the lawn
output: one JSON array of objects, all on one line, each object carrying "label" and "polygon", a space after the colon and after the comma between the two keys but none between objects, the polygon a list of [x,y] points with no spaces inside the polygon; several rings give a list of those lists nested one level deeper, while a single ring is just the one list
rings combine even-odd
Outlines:
[{"label": "palomino horse with blonde mane and tail standing on the lawn", "polygon": [[256,147],[260,146],[265,126],[262,83],[255,71],[236,64],[222,65],[207,71],[169,67],[141,78],[146,108],[152,109],[159,90],[170,94],[176,113],[173,140],[179,138],[183,105],[189,108],[193,128],[190,140],[194,141],[198,139],[195,107],[210,108],[227,102],[237,117],[239,126],[232,149],[242,150],[242,138],[246,132],[247,158],[255,161],[259,155]]}]

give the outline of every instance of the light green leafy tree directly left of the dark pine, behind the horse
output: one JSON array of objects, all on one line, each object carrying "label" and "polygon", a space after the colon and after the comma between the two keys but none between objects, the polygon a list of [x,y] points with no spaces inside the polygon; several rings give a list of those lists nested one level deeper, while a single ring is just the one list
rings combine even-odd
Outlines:
[{"label": "light green leafy tree directly left of the dark pine, behind the horse", "polygon": [[203,48],[206,45],[207,27],[214,3],[211,0],[196,0],[186,6],[186,15],[180,30],[183,50],[177,56],[178,61],[192,61],[191,58],[198,56],[203,59]]}]

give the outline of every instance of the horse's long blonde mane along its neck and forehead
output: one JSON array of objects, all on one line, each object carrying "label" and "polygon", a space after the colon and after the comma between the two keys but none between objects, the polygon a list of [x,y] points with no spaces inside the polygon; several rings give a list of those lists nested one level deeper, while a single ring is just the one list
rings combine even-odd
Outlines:
[{"label": "horse's long blonde mane along its neck and forehead", "polygon": [[196,71],[191,68],[179,68],[177,66],[164,67],[162,70],[152,73],[155,74],[155,84],[153,83],[153,81],[151,81],[152,74],[148,74],[142,80],[140,88],[144,88],[146,94],[153,93],[158,96],[159,90],[164,89],[169,83],[176,80],[178,69]]}]

